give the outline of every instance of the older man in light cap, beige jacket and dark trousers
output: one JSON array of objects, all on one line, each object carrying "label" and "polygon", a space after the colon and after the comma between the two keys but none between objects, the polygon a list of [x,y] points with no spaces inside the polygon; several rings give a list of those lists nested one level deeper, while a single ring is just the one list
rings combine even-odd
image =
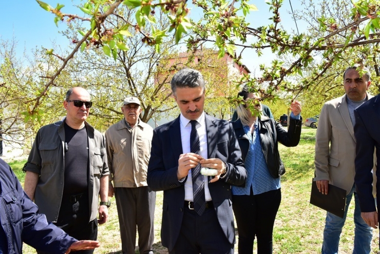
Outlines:
[{"label": "older man in light cap, beige jacket and dark trousers", "polygon": [[137,226],[140,253],[153,254],[156,192],[146,182],[153,129],[139,118],[138,98],[125,98],[121,111],[124,118],[105,134],[111,173],[108,195],[115,193],[122,252],[135,253]]}]

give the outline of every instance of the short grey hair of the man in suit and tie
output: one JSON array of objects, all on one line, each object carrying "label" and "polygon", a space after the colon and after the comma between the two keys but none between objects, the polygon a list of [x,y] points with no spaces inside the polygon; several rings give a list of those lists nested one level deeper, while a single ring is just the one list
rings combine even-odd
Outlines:
[{"label": "short grey hair of the man in suit and tie", "polygon": [[175,95],[177,87],[183,88],[183,87],[202,87],[203,92],[206,89],[206,86],[203,81],[203,76],[201,72],[195,69],[191,68],[185,68],[179,70],[172,78],[172,81],[170,81],[170,85],[172,86],[172,92]]}]

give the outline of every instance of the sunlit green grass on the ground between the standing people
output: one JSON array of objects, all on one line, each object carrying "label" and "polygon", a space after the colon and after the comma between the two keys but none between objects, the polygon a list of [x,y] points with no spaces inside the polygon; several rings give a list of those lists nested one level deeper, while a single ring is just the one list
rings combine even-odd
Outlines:
[{"label": "sunlit green grass on the ground between the standing people", "polygon": [[[273,233],[273,252],[282,253],[320,253],[326,212],[309,204],[312,178],[314,176],[315,129],[303,128],[297,147],[287,148],[279,145],[280,155],[286,167],[281,178],[282,201],[276,216]],[[13,169],[22,168],[18,162]],[[17,166],[18,165],[18,166]],[[20,179],[23,177],[21,174]],[[155,210],[154,253],[166,254],[160,239],[163,192],[157,192]],[[115,199],[111,199],[109,221],[99,226],[98,240],[101,247],[94,253],[121,253],[119,223]],[[340,237],[339,254],[352,253],[354,241],[353,203],[348,212],[346,225]],[[236,224],[235,224],[236,226]],[[237,229],[235,230],[237,234]],[[378,229],[373,231],[372,253],[378,251]],[[236,240],[239,241],[238,235]],[[254,245],[256,253],[256,242]],[[35,253],[24,246],[24,253]],[[136,253],[139,253],[136,250]],[[237,244],[235,245],[237,252]]]}]

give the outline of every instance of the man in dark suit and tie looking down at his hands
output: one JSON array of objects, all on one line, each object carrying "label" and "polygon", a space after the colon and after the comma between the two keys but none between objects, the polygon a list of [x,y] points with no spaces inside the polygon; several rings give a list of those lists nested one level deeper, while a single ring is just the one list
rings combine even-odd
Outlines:
[{"label": "man in dark suit and tie looking down at his hands", "polygon": [[204,113],[199,71],[182,69],[170,83],[181,114],[154,130],[147,175],[151,189],[164,191],[162,245],[170,254],[233,253],[231,185],[246,178],[234,129]]}]

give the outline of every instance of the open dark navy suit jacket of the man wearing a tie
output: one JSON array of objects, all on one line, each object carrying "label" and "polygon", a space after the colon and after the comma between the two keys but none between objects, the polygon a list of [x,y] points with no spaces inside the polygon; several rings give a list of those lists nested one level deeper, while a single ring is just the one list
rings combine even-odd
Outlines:
[{"label": "open dark navy suit jacket of the man wearing a tie", "polygon": [[[235,244],[231,185],[245,182],[246,170],[234,129],[230,122],[205,115],[208,158],[219,158],[226,164],[226,174],[208,184],[219,224],[231,244]],[[182,154],[180,118],[156,128],[153,132],[147,182],[154,191],[164,191],[161,241],[171,251],[180,232],[185,200],[184,184],[177,178],[178,159]]]}]

